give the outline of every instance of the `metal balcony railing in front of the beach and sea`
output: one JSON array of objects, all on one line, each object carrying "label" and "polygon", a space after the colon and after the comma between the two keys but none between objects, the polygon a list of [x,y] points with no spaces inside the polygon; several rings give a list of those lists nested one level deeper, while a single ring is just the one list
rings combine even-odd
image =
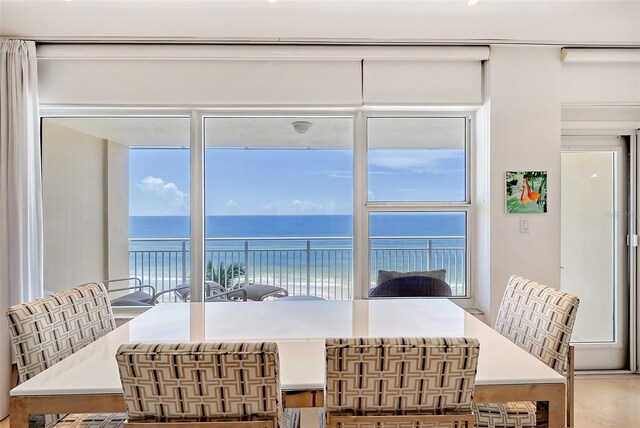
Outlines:
[{"label": "metal balcony railing in front of the beach and sea", "polygon": [[[466,294],[463,236],[370,238],[371,287],[380,269],[446,270],[454,296]],[[245,273],[234,283],[283,287],[290,295],[310,294],[331,300],[353,298],[352,239],[342,237],[208,238],[205,263],[212,268],[239,264]],[[131,275],[157,291],[189,282],[190,246],[183,238],[129,240]]]}]

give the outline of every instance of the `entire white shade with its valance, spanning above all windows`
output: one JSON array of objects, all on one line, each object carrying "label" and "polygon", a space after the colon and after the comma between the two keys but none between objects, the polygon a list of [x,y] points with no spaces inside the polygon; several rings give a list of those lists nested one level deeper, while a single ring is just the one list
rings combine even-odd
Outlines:
[{"label": "entire white shade with its valance, spanning above all windows", "polygon": [[477,105],[487,47],[42,45],[52,105]]}]

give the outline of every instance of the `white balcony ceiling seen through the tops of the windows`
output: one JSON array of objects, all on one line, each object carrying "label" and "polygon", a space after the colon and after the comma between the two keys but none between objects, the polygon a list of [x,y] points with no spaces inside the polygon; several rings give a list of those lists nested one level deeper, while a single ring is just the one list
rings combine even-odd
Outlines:
[{"label": "white balcony ceiling seen through the tops of the windows", "polygon": [[[130,147],[188,147],[190,119],[177,117],[45,118],[99,139]],[[306,121],[304,134],[293,123]],[[372,118],[372,148],[453,148],[465,141],[463,118]],[[354,138],[350,117],[272,116],[205,119],[205,141],[216,147],[350,148]]]}]

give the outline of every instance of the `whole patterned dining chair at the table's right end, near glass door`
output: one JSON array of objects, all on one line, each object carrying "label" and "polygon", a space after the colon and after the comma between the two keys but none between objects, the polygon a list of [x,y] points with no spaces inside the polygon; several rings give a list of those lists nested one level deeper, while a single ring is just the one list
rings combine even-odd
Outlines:
[{"label": "whole patterned dining chair at the table's right end, near glass door", "polygon": [[[573,363],[569,342],[580,300],[569,293],[512,275],[495,330],[546,365],[567,376],[567,420],[573,424]],[[571,350],[572,351],[572,350]],[[476,426],[546,426],[546,402],[475,403]]]}]

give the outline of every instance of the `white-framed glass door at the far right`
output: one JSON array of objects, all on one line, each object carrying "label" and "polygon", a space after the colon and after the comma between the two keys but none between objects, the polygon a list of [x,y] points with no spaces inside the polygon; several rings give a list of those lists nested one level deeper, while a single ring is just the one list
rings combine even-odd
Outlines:
[{"label": "white-framed glass door at the far right", "polygon": [[629,141],[563,138],[561,286],[580,296],[578,369],[629,366]]}]

